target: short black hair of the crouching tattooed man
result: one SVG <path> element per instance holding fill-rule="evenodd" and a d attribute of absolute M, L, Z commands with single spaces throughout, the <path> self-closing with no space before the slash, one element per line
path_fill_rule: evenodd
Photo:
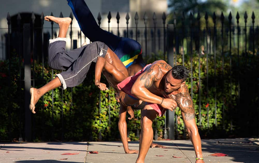
<path fill-rule="evenodd" d="M 177 65 L 172 68 L 172 76 L 175 79 L 181 79 L 184 82 L 190 74 L 190 70 L 183 65 Z"/>

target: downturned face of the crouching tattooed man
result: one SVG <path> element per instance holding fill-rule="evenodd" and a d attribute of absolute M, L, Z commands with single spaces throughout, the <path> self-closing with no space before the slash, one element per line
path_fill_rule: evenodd
<path fill-rule="evenodd" d="M 165 90 L 165 92 L 166 92 L 167 94 L 170 94 L 170 93 L 172 93 L 173 91 L 178 90 L 179 87 L 185 83 L 185 81 L 182 82 L 181 79 L 175 79 L 175 78 L 173 78 L 171 71 L 168 72 L 168 74 L 167 74 L 166 79 L 165 79 L 164 82 L 165 82 L 165 83 L 164 83 L 164 90 Z"/>

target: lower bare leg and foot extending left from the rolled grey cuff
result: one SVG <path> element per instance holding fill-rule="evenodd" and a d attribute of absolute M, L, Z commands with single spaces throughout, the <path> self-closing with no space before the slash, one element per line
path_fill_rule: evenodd
<path fill-rule="evenodd" d="M 53 90 L 54 88 L 60 87 L 61 82 L 58 77 L 54 78 L 50 82 L 48 82 L 46 85 L 40 87 L 39 89 L 37 88 L 31 88 L 30 89 L 30 94 L 31 94 L 31 103 L 29 105 L 29 108 L 33 114 L 35 114 L 35 104 L 38 102 L 40 97 L 47 93 L 50 90 Z"/>

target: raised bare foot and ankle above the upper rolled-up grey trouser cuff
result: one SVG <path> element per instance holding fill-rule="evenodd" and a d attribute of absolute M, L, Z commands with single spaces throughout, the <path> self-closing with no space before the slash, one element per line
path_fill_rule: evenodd
<path fill-rule="evenodd" d="M 66 38 L 68 27 L 71 23 L 71 18 L 57 18 L 54 16 L 45 16 L 45 20 L 47 21 L 54 21 L 56 24 L 59 25 L 59 35 L 58 37 Z"/>

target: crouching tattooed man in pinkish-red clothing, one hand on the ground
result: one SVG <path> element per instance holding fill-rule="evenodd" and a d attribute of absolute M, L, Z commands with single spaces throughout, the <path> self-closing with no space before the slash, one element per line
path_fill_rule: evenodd
<path fill-rule="evenodd" d="M 139 155 L 136 162 L 145 161 L 153 140 L 153 120 L 157 115 L 163 116 L 166 109 L 172 111 L 176 106 L 181 109 L 185 127 L 195 150 L 196 163 L 204 162 L 193 102 L 185 85 L 189 73 L 190 70 L 182 65 L 172 68 L 165 61 L 159 60 L 146 65 L 139 73 L 118 84 L 118 88 L 129 95 L 127 98 L 147 102 L 141 113 Z M 125 100 L 125 103 L 132 101 Z"/>

